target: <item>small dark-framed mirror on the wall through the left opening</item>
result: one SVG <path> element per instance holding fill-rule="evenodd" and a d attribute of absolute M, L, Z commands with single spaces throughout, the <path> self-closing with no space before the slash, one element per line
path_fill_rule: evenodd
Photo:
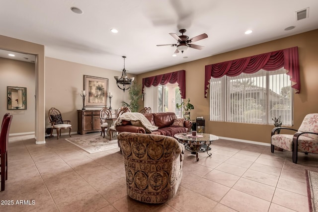
<path fill-rule="evenodd" d="M 26 87 L 7 86 L 7 109 L 26 110 Z"/>

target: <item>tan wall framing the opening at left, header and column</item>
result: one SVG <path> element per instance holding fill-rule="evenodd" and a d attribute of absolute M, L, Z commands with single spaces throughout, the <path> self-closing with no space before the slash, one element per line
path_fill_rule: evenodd
<path fill-rule="evenodd" d="M 36 55 L 35 61 L 35 138 L 36 143 L 45 142 L 45 64 L 44 46 L 0 35 L 0 49 Z M 14 119 L 14 117 L 13 117 Z M 11 129 L 10 129 L 11 132 Z"/>

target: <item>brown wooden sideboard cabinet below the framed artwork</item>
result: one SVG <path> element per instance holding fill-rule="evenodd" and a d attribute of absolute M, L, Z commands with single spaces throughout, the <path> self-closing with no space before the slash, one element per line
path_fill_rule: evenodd
<path fill-rule="evenodd" d="M 78 110 L 78 134 L 100 132 L 100 110 Z"/>

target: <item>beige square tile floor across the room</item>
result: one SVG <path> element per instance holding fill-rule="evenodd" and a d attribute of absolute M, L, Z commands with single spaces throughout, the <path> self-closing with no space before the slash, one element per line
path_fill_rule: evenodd
<path fill-rule="evenodd" d="M 212 157 L 199 153 L 198 162 L 186 151 L 176 196 L 151 205 L 127 196 L 119 148 L 89 154 L 66 138 L 45 144 L 9 139 L 0 211 L 307 212 L 305 169 L 318 169 L 317 154 L 300 153 L 294 164 L 291 152 L 272 154 L 270 146 L 218 140 Z M 20 200 L 24 204 L 18 205 Z"/>

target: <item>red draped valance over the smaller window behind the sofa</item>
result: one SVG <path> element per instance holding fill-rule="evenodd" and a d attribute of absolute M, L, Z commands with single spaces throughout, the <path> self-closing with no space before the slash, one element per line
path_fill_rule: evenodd
<path fill-rule="evenodd" d="M 142 92 L 144 93 L 144 88 L 150 86 L 158 86 L 159 84 L 165 85 L 167 83 L 178 83 L 180 88 L 181 98 L 185 99 L 185 71 L 174 71 L 170 73 L 164 73 L 157 76 L 150 76 L 143 78 L 143 89 Z"/>

